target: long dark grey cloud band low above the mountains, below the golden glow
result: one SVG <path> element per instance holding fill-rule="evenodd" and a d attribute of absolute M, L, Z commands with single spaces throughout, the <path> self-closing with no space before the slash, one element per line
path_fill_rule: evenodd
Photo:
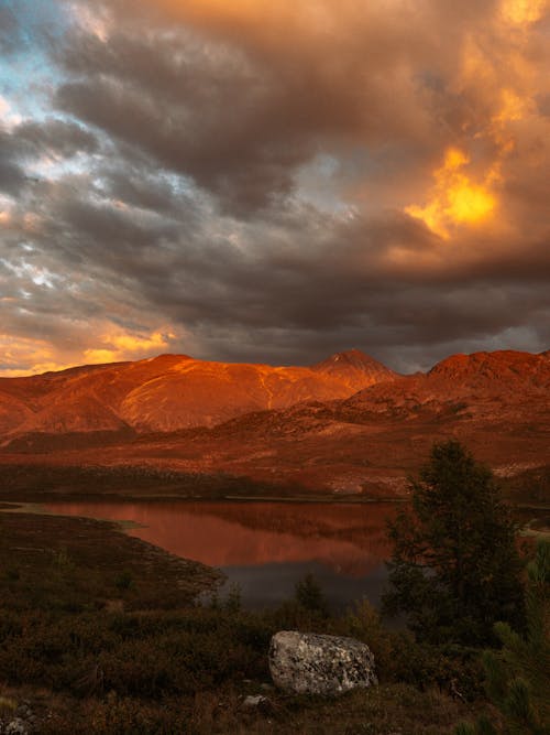
<path fill-rule="evenodd" d="M 70 199 L 69 191 L 58 196 L 58 208 L 50 205 L 65 227 L 58 248 L 78 242 L 80 270 L 129 299 L 139 293 L 152 313 L 200 334 L 210 357 L 238 357 L 234 345 L 223 345 L 224 334 L 277 334 L 273 348 L 264 342 L 246 344 L 243 336 L 242 359 L 258 358 L 264 350 L 277 361 L 277 350 L 293 345 L 295 359 L 307 363 L 333 352 L 333 345 L 366 343 L 380 353 L 396 342 L 430 346 L 442 334 L 460 339 L 498 333 L 521 324 L 526 313 L 534 323 L 537 313 L 539 321 L 544 317 L 543 284 L 539 292 L 532 285 L 514 290 L 503 278 L 488 288 L 483 269 L 476 272 L 475 267 L 452 282 L 439 273 L 431 279 L 426 272 L 389 274 L 380 260 L 385 251 L 381 240 L 385 235 L 387 242 L 410 242 L 411 224 L 405 217 L 382 221 L 376 230 L 366 221 L 339 224 L 314 212 L 308 219 L 302 212 L 301 229 L 295 230 L 295 242 L 285 253 L 266 239 L 268 228 L 261 223 L 242 230 L 249 248 L 241 249 L 212 236 L 200 217 L 195 217 L 195 226 L 189 225 L 193 217 L 187 223 L 184 217 L 163 230 L 140 223 L 132 213 Z M 419 239 L 424 230 L 413 227 Z M 308 248 L 319 229 L 324 241 Z M 250 245 L 262 233 L 262 251 L 252 255 Z M 216 335 L 210 347 L 208 334 Z"/>

